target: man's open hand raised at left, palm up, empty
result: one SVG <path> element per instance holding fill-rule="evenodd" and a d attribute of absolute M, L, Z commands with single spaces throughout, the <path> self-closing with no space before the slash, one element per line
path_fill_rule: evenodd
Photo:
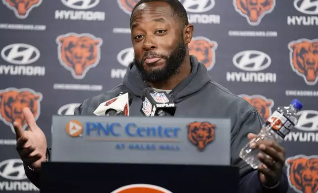
<path fill-rule="evenodd" d="M 22 126 L 17 122 L 13 124 L 17 139 L 16 150 L 26 165 L 39 170 L 41 162 L 46 159 L 46 137 L 38 127 L 29 108 L 23 109 L 23 115 L 28 125 L 28 130 L 23 130 Z"/>

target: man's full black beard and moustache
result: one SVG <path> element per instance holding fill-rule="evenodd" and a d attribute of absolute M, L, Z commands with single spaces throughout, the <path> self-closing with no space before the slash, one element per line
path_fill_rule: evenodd
<path fill-rule="evenodd" d="M 138 61 L 134 58 L 134 64 L 140 72 L 141 78 L 147 82 L 165 81 L 168 78 L 176 75 L 180 71 L 180 66 L 183 63 L 187 54 L 186 45 L 182 42 L 177 44 L 177 47 L 170 53 L 170 55 L 164 56 L 159 55 L 153 51 L 147 51 L 144 55 L 146 56 L 158 56 L 165 60 L 165 65 L 161 69 L 152 70 L 147 72 L 144 67 L 144 59 Z"/>

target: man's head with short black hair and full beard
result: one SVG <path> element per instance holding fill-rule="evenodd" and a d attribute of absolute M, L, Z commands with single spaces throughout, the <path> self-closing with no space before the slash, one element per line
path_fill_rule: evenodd
<path fill-rule="evenodd" d="M 134 64 L 148 82 L 164 81 L 179 73 L 193 35 L 179 0 L 140 0 L 131 13 Z"/>

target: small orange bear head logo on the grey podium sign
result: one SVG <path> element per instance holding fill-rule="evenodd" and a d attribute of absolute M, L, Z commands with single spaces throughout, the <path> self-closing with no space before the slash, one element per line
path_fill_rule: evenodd
<path fill-rule="evenodd" d="M 204 148 L 214 140 L 215 125 L 209 122 L 193 122 L 187 124 L 188 138 L 198 147 L 199 151 L 203 151 Z"/>

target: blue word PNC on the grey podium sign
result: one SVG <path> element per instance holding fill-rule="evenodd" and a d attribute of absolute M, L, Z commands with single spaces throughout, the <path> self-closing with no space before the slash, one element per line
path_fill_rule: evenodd
<path fill-rule="evenodd" d="M 91 123 L 91 122 L 87 122 L 86 123 L 86 134 L 89 136 L 91 131 L 97 131 L 97 135 L 101 135 L 101 131 L 109 136 L 109 135 L 113 135 L 113 136 L 120 136 L 119 133 L 116 133 L 114 131 L 114 127 L 120 127 L 119 123 L 113 123 L 113 124 L 106 124 L 106 127 L 104 127 L 101 123 Z"/>

